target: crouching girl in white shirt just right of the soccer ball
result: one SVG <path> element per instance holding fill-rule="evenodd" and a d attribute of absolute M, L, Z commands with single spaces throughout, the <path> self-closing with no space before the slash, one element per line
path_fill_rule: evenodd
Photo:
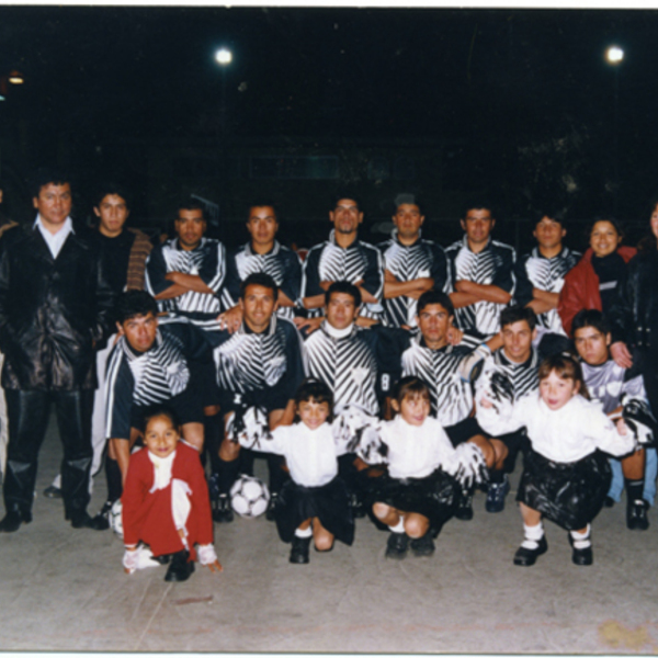
<path fill-rule="evenodd" d="M 239 435 L 242 445 L 284 455 L 291 480 L 282 488 L 275 509 L 283 542 L 292 542 L 290 561 L 308 563 L 313 537 L 316 551 L 333 547 L 334 537 L 351 545 L 354 521 L 348 489 L 338 475 L 338 457 L 347 452 L 334 440 L 329 421 L 333 396 L 329 387 L 306 379 L 295 395 L 296 422 L 265 432 L 262 441 Z"/>

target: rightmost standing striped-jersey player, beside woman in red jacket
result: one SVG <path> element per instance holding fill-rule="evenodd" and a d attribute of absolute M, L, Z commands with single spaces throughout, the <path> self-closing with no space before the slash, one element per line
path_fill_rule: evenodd
<path fill-rule="evenodd" d="M 559 292 L 565 274 L 580 260 L 580 253 L 563 246 L 567 235 L 564 211 L 535 215 L 533 236 L 537 246 L 517 261 L 517 303 L 527 306 L 537 316 L 537 324 L 552 333 L 566 336 L 557 314 Z"/>

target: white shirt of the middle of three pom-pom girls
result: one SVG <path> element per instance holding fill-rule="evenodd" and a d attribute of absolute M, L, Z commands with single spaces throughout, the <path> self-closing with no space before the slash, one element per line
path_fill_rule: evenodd
<path fill-rule="evenodd" d="M 445 430 L 431 416 L 420 427 L 396 416 L 395 420 L 382 423 L 382 441 L 388 446 L 388 473 L 396 479 L 427 477 L 455 458 L 455 449 Z"/>

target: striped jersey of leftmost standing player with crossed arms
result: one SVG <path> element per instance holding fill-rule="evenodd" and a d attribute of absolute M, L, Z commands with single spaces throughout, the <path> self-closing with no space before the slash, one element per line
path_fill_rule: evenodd
<path fill-rule="evenodd" d="M 226 250 L 224 245 L 212 238 L 202 238 L 196 249 L 181 249 L 178 238 L 167 240 L 154 248 L 146 262 L 146 290 L 154 297 L 172 284 L 166 279 L 168 272 L 194 274 L 214 291 L 211 293 L 186 293 L 172 299 L 161 299 L 158 308 L 203 321 L 216 317 L 222 310 L 219 291 L 226 276 Z"/>

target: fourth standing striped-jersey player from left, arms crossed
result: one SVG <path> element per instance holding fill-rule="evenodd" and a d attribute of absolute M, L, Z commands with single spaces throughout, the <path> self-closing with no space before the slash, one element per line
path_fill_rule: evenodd
<path fill-rule="evenodd" d="M 384 257 L 384 308 L 386 324 L 415 327 L 418 297 L 432 288 L 450 292 L 445 252 L 420 237 L 424 215 L 411 201 L 399 203 L 393 216 L 389 240 L 378 245 Z"/>

